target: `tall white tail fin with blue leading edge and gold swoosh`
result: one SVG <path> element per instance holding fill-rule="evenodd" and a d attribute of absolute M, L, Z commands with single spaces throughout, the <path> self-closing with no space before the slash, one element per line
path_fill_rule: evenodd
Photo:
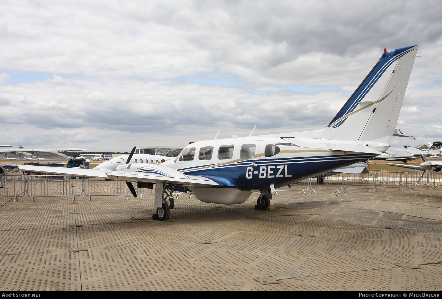
<path fill-rule="evenodd" d="M 330 124 L 315 135 L 360 141 L 392 135 L 418 48 L 384 52 Z"/>

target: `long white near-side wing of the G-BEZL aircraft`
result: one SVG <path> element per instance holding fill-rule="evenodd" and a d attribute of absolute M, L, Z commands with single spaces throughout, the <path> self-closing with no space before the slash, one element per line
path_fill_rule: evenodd
<path fill-rule="evenodd" d="M 171 169 L 170 167 L 155 165 L 156 169 L 163 168 L 159 174 L 151 172 L 132 172 L 132 171 L 105 171 L 85 168 L 65 168 L 65 167 L 48 167 L 35 165 L 15 165 L 5 164 L 3 168 L 19 169 L 24 171 L 37 171 L 44 173 L 53 173 L 60 175 L 79 175 L 104 179 L 119 179 L 126 182 L 146 182 L 146 183 L 175 183 L 180 186 L 220 186 L 219 183 L 211 179 L 201 176 L 187 176 L 181 172 Z M 166 176 L 164 175 L 166 174 Z"/>

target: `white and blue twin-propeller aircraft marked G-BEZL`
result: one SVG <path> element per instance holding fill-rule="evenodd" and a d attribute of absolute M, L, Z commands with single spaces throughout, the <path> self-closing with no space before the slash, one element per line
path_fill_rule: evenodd
<path fill-rule="evenodd" d="M 152 218 L 163 221 L 174 206 L 174 191 L 191 190 L 200 201 L 217 204 L 243 203 L 259 191 L 255 209 L 265 210 L 271 189 L 376 157 L 389 148 L 417 49 L 384 50 L 324 129 L 199 141 L 161 165 L 127 162 L 115 171 L 53 167 L 52 173 L 124 180 L 135 197 L 130 182 L 141 188 L 155 184 Z M 38 166 L 8 167 L 40 171 Z M 48 168 L 42 172 L 51 172 Z"/>

